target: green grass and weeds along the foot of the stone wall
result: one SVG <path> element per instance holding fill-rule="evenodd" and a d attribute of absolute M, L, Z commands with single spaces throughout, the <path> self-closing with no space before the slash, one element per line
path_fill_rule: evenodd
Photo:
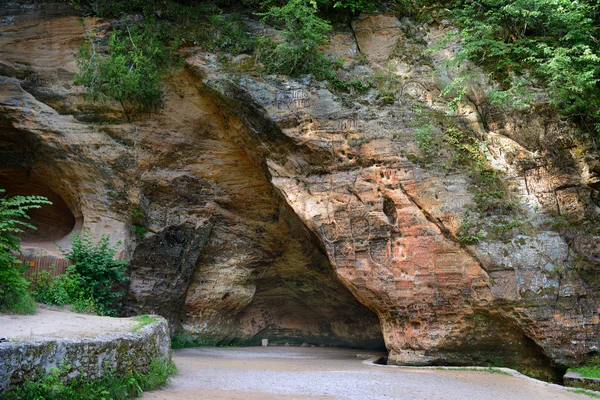
<path fill-rule="evenodd" d="M 109 375 L 102 379 L 85 380 L 81 373 L 74 379 L 68 375 L 77 373 L 71 366 L 62 365 L 45 374 L 41 379 L 3 393 L 3 398 L 20 400 L 125 400 L 140 397 L 143 391 L 164 386 L 177 374 L 173 363 L 164 358 L 153 360 L 147 373 L 128 371 L 122 375 Z"/>

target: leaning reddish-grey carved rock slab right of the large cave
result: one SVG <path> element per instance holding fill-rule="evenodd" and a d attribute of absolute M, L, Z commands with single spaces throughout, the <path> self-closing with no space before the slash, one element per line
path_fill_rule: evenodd
<path fill-rule="evenodd" d="M 483 73 L 448 117 L 444 77 L 431 78 L 444 51 L 413 54 L 438 32 L 406 21 L 387 65 L 373 57 L 374 79 L 387 74 L 398 85 L 393 104 L 373 90 L 336 96 L 325 83 L 211 76 L 202 57 L 188 62 L 254 130 L 264 148 L 256 157 L 266 159 L 273 185 L 344 284 L 376 310 L 391 362 L 580 362 L 598 346 L 597 240 L 587 239 L 598 221 L 594 180 L 586 178 L 593 140 L 576 146 L 573 138 L 585 134 L 542 103 L 498 111 L 483 100 L 493 88 Z M 485 154 L 477 161 L 485 170 L 457 162 L 470 143 L 484 149 L 476 152 Z M 578 241 L 587 253 L 576 250 Z"/>

